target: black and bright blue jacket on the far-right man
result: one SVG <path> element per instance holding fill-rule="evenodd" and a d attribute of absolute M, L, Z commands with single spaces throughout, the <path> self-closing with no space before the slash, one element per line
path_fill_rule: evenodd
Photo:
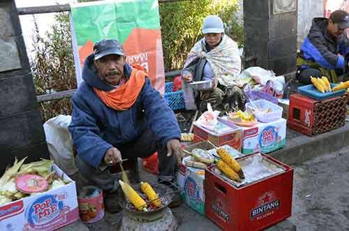
<path fill-rule="evenodd" d="M 329 69 L 343 69 L 344 57 L 349 51 L 349 40 L 346 34 L 332 40 L 327 33 L 328 19 L 315 17 L 308 36 L 301 47 L 301 57 L 315 61 L 320 66 Z M 339 55 L 340 54 L 340 55 Z M 306 68 L 306 66 L 302 66 Z"/>

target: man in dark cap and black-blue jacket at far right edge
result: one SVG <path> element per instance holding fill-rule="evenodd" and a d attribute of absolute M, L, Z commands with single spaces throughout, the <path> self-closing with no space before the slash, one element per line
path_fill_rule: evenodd
<path fill-rule="evenodd" d="M 349 14 L 336 10 L 329 19 L 315 17 L 308 36 L 304 40 L 297 66 L 298 80 L 311 84 L 310 77 L 326 76 L 330 82 L 342 81 L 344 57 L 349 51 L 349 40 L 345 29 L 349 28 Z"/>

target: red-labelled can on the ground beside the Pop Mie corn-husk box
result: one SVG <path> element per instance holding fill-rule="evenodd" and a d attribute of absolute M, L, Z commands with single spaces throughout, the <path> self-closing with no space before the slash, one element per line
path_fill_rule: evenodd
<path fill-rule="evenodd" d="M 100 221 L 104 216 L 103 191 L 86 186 L 77 195 L 80 218 L 84 223 Z"/>

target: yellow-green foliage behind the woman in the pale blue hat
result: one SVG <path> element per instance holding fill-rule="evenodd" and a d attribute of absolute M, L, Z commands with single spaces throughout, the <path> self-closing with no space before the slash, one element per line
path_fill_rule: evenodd
<path fill-rule="evenodd" d="M 195 0 L 161 3 L 161 34 L 165 70 L 178 70 L 191 47 L 202 38 L 202 21 L 207 15 L 218 15 L 231 25 L 233 33 L 240 33 L 237 42 L 242 44 L 242 28 L 233 13 L 238 10 L 238 0 Z M 227 32 L 230 35 L 230 31 Z"/>

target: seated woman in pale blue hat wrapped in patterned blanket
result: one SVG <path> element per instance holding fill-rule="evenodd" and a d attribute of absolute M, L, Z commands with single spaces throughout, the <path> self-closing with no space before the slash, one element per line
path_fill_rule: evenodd
<path fill-rule="evenodd" d="M 236 81 L 241 72 L 241 58 L 235 41 L 225 35 L 220 17 L 209 15 L 202 25 L 204 38 L 191 49 L 181 72 L 187 110 L 205 112 L 207 103 L 221 113 L 243 109 L 244 91 Z M 211 80 L 207 91 L 194 91 L 191 82 Z"/>

